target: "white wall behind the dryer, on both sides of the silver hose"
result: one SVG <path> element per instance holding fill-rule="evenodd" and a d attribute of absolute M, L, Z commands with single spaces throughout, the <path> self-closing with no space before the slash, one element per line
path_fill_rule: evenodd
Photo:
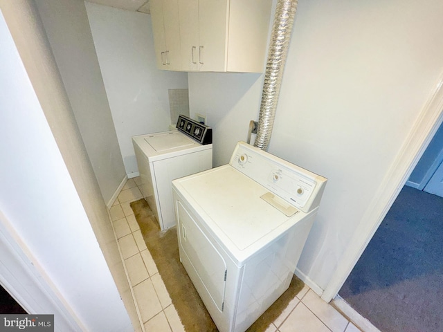
<path fill-rule="evenodd" d="M 298 4 L 269 152 L 329 179 L 298 264 L 320 289 L 435 89 L 442 15 L 439 0 Z M 189 74 L 191 116 L 215 128 L 215 165 L 257 120 L 260 80 Z"/>

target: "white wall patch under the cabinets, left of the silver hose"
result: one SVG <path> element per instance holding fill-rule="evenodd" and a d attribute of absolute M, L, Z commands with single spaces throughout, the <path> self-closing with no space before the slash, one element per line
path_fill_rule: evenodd
<path fill-rule="evenodd" d="M 257 120 L 263 75 L 188 73 L 189 109 L 206 115 L 213 127 L 214 166 L 229 162 L 239 140 L 246 141 L 250 120 Z"/>

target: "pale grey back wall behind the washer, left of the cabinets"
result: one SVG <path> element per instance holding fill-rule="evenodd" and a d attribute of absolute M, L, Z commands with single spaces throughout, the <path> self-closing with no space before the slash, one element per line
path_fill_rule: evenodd
<path fill-rule="evenodd" d="M 132 136 L 168 130 L 168 89 L 187 89 L 187 73 L 156 68 L 151 16 L 86 2 L 98 61 L 129 177 L 138 172 Z"/>

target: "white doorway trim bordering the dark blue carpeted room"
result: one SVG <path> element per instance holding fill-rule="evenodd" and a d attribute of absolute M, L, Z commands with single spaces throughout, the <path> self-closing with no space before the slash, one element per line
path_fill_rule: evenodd
<path fill-rule="evenodd" d="M 340 291 L 442 122 L 443 73 L 440 74 L 437 85 L 415 120 L 394 163 L 381 181 L 374 199 L 363 214 L 343 257 L 338 261 L 336 270 L 321 295 L 326 302 L 330 302 Z"/>

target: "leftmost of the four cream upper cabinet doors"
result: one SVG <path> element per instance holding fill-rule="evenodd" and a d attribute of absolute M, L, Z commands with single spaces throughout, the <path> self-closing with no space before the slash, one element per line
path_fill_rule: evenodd
<path fill-rule="evenodd" d="M 154 49 L 157 68 L 165 69 L 166 66 L 166 41 L 165 27 L 163 25 L 163 3 L 161 0 L 151 0 L 152 32 L 154 33 Z"/>

